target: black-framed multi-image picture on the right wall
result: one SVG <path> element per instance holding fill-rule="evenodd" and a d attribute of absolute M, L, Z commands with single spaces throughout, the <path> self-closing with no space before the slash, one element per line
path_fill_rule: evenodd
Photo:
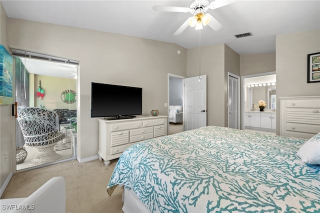
<path fill-rule="evenodd" d="M 307 82 L 320 82 L 320 52 L 308 54 L 307 61 Z"/>

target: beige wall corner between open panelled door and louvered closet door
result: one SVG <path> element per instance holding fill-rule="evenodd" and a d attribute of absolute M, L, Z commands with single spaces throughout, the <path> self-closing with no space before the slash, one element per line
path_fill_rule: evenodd
<path fill-rule="evenodd" d="M 187 49 L 186 76 L 199 74 L 199 49 Z M 207 125 L 227 126 L 227 72 L 239 75 L 239 55 L 222 44 L 202 46 L 201 74 L 207 75 Z"/>

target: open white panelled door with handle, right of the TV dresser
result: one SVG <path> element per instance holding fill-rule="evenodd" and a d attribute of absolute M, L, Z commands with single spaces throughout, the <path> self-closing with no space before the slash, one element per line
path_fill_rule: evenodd
<path fill-rule="evenodd" d="M 206 126 L 206 75 L 184 79 L 184 130 Z"/>

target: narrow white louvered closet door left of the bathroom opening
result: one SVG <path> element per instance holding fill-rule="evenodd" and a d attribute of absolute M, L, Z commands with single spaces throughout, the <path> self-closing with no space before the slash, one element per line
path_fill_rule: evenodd
<path fill-rule="evenodd" d="M 236 129 L 240 127 L 238 80 L 238 76 L 228 74 L 228 127 Z"/>

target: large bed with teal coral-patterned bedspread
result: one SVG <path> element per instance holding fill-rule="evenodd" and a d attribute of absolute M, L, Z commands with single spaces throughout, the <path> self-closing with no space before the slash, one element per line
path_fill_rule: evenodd
<path fill-rule="evenodd" d="M 124 187 L 124 212 L 314 212 L 314 141 L 219 126 L 152 138 L 122 153 L 107 192 Z"/>

